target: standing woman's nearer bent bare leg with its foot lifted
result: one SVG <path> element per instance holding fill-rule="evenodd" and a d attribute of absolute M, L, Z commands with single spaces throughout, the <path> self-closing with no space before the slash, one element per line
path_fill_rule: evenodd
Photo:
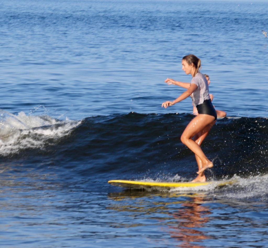
<path fill-rule="evenodd" d="M 207 126 L 210 126 L 211 124 L 213 125 L 214 122 L 214 116 L 210 116 L 207 114 L 199 114 L 193 120 L 190 121 L 190 123 L 185 128 L 183 134 L 181 135 L 181 142 L 183 142 L 184 145 L 186 145 L 191 151 L 193 151 L 202 162 L 202 168 L 199 169 L 199 171 L 197 172 L 198 174 L 202 173 L 207 168 L 213 167 L 213 163 L 206 157 L 198 143 L 192 140 L 192 138 L 199 132 L 203 131 Z M 208 132 L 206 132 L 204 138 L 207 136 L 207 134 Z"/>

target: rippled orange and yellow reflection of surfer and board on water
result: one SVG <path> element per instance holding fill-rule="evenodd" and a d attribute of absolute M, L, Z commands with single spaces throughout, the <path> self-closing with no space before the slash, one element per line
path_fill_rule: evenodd
<path fill-rule="evenodd" d="M 161 231 L 170 235 L 170 239 L 176 239 L 179 242 L 178 247 L 205 247 L 202 245 L 202 241 L 210 238 L 202 228 L 210 220 L 211 215 L 210 208 L 203 204 L 211 199 L 203 193 L 161 194 L 146 191 L 124 191 L 111 193 L 108 196 L 113 200 L 108 209 L 122 212 L 122 215 L 127 214 L 128 216 L 130 212 L 133 220 L 136 218 L 140 220 L 140 223 L 136 223 L 136 221 L 114 223 L 117 227 L 158 225 Z M 154 220 L 153 223 L 152 220 Z"/>

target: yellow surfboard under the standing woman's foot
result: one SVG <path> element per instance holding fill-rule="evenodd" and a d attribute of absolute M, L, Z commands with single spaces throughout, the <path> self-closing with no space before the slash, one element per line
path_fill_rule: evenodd
<path fill-rule="evenodd" d="M 227 181 L 211 181 L 211 182 L 142 182 L 142 181 L 129 181 L 129 180 L 110 180 L 108 181 L 111 185 L 125 187 L 125 188 L 178 188 L 178 187 L 198 187 L 198 186 L 205 186 L 209 184 L 214 184 L 215 187 L 222 187 L 228 184 L 235 183 L 235 180 L 227 180 Z"/>

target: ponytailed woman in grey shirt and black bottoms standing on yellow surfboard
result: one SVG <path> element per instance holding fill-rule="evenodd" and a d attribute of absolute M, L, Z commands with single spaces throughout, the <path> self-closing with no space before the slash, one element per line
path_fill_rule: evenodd
<path fill-rule="evenodd" d="M 217 113 L 210 100 L 206 77 L 200 73 L 201 60 L 190 54 L 183 57 L 181 64 L 183 71 L 187 75 L 192 75 L 191 83 L 176 81 L 178 86 L 187 90 L 174 101 L 163 102 L 162 107 L 167 108 L 191 96 L 193 104 L 198 110 L 198 116 L 192 119 L 185 128 L 181 135 L 181 142 L 193 151 L 198 164 L 198 176 L 192 182 L 205 182 L 204 170 L 213 167 L 213 163 L 206 157 L 200 146 L 209 134 L 211 127 L 216 123 Z M 167 79 L 165 82 L 167 81 L 174 80 Z"/>

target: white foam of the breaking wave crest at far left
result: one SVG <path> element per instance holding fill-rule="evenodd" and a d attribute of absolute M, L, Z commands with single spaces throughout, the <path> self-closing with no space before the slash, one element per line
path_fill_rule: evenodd
<path fill-rule="evenodd" d="M 49 116 L 31 116 L 24 112 L 13 115 L 0 110 L 0 154 L 17 153 L 21 149 L 39 148 L 52 140 L 69 135 L 81 121 L 57 120 Z"/>

